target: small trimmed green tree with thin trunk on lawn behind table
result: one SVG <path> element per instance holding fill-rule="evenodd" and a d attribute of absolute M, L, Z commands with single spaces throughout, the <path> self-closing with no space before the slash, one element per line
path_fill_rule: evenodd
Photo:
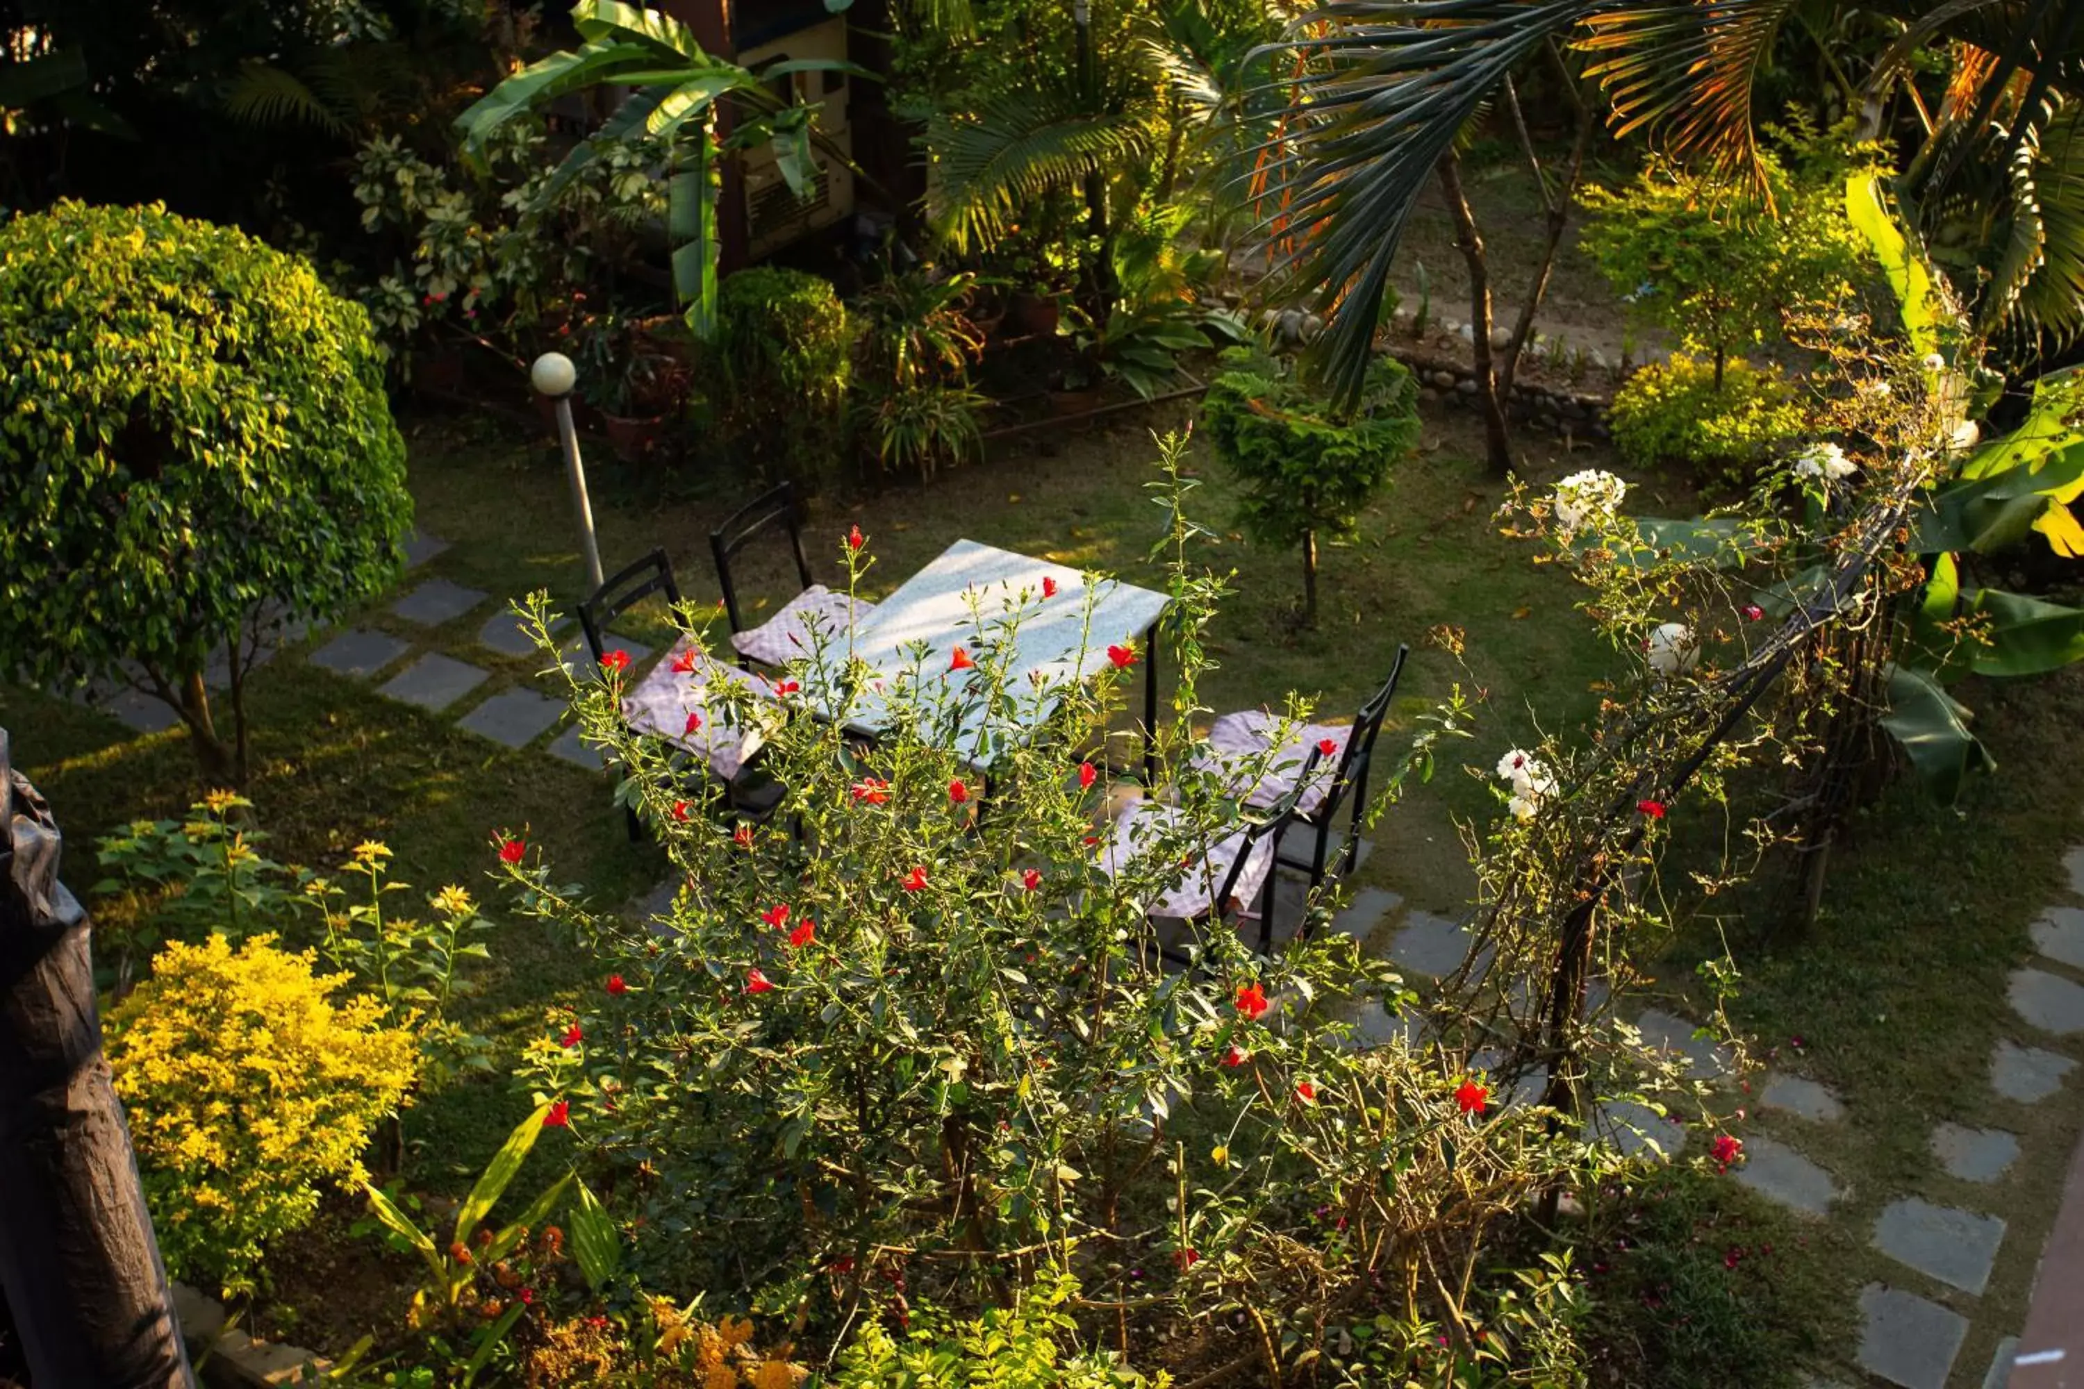
<path fill-rule="evenodd" d="M 1263 546 L 1302 548 L 1302 623 L 1317 623 L 1317 535 L 1353 539 L 1361 508 L 1419 439 L 1411 371 L 1375 356 L 1350 414 L 1271 356 L 1232 348 L 1200 419 L 1215 454 L 1244 487 L 1238 525 Z"/>

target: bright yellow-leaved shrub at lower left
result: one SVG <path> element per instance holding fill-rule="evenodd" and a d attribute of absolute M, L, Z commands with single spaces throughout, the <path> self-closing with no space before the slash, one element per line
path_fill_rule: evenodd
<path fill-rule="evenodd" d="M 348 975 L 273 935 L 169 941 L 108 1016 L 108 1064 L 129 1114 L 167 1270 L 252 1287 L 263 1245 L 311 1220 L 319 1183 L 363 1179 L 369 1129 L 413 1083 L 417 1041 L 383 1004 L 336 1002 Z"/>

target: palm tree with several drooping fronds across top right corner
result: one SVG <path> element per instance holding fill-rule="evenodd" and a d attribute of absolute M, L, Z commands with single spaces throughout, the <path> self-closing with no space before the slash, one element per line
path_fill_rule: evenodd
<path fill-rule="evenodd" d="M 1834 0 L 1811 29 L 1894 31 L 1844 96 L 1865 133 L 1909 127 L 1892 181 L 1976 327 L 2013 362 L 2084 331 L 2084 0 Z M 1455 137 L 1548 44 L 1588 56 L 1619 133 L 1765 192 L 1759 81 L 1794 0 L 1332 0 L 1288 40 L 1309 60 L 1292 217 L 1315 235 L 1286 262 L 1330 325 L 1325 379 L 1353 398 L 1405 223 Z M 1792 40 L 1788 40 L 1792 42 Z M 1913 54 L 1944 48 L 1944 92 Z M 1890 117 L 1901 117 L 1890 123 Z"/>

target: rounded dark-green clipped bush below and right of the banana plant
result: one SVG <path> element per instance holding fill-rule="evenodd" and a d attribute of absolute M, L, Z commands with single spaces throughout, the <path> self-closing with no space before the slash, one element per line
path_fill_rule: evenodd
<path fill-rule="evenodd" d="M 817 483 L 846 427 L 852 327 L 832 281 L 754 267 L 717 292 L 713 381 L 740 454 L 771 477 Z"/>

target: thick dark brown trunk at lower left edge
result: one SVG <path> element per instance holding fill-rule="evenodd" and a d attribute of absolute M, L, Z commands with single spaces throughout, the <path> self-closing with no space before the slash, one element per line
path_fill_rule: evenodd
<path fill-rule="evenodd" d="M 0 729 L 0 1289 L 29 1383 L 194 1389 L 123 1106 L 88 914 Z"/>

